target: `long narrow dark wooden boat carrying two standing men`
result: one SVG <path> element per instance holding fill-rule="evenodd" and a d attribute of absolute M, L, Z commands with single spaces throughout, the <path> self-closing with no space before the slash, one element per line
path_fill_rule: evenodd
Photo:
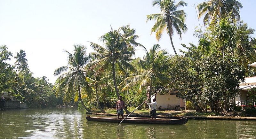
<path fill-rule="evenodd" d="M 116 117 L 92 117 L 86 116 L 88 121 L 98 121 L 98 122 L 112 122 L 119 123 L 123 119 L 117 119 Z M 139 118 L 139 117 L 128 117 L 123 121 L 123 123 L 133 123 L 133 124 L 167 124 L 167 125 L 183 125 L 188 122 L 188 117 L 183 117 L 180 119 L 160 119 L 152 120 L 151 118 Z"/>

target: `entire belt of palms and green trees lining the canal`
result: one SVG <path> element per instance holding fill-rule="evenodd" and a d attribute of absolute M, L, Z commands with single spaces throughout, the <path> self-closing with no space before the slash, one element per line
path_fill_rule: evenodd
<path fill-rule="evenodd" d="M 184 1 L 155 0 L 159 14 L 148 15 L 156 20 L 151 32 L 159 40 L 164 32 L 170 36 L 175 56 L 169 55 L 158 44 L 147 50 L 137 42 L 135 29 L 129 25 L 112 29 L 100 36 L 103 46 L 91 42 L 95 51 L 88 53 L 86 46 L 74 45 L 68 52 L 68 64 L 55 70 L 58 79 L 53 86 L 46 77 L 34 78 L 29 71 L 26 53 L 20 50 L 15 65 L 6 61 L 12 53 L 1 47 L 0 91 L 12 92 L 17 99 L 31 106 L 56 106 L 62 101 L 77 104 L 87 111 L 92 108 L 113 107 L 122 95 L 130 107 L 136 107 L 149 96 L 171 81 L 164 93 L 175 93 L 187 98 L 197 112 L 233 111 L 234 99 L 238 95 L 239 83 L 245 76 L 255 76 L 256 39 L 254 29 L 240 21 L 239 10 L 243 7 L 236 0 L 209 0 L 199 4 L 199 17 L 204 16 L 204 28 L 197 27 L 194 35 L 198 45 L 181 44 L 187 50 L 178 55 L 173 43 L 174 31 L 178 35 L 186 32 L 186 13 L 177 10 L 187 6 Z M 142 47 L 146 55 L 134 59 L 135 48 Z M 56 95 L 56 96 L 55 96 Z M 129 112 L 125 109 L 126 112 Z"/>

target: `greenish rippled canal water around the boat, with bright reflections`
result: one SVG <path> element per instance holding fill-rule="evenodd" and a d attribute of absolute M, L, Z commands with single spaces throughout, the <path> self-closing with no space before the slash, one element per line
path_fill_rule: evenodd
<path fill-rule="evenodd" d="M 75 108 L 0 111 L 0 138 L 256 138 L 256 121 L 188 120 L 185 125 L 118 125 L 89 122 L 85 115 Z"/>

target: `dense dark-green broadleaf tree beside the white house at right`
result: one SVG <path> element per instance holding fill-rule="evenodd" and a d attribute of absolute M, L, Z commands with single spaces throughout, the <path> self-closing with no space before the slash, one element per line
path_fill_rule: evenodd
<path fill-rule="evenodd" d="M 200 59 L 196 67 L 202 79 L 202 93 L 205 101 L 209 102 L 212 112 L 228 110 L 228 104 L 233 104 L 239 92 L 239 84 L 244 81 L 245 70 L 239 59 L 232 56 L 212 54 Z"/>

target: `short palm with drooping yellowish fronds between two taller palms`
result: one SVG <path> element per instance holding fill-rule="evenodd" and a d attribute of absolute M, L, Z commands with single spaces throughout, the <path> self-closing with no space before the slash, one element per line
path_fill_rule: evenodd
<path fill-rule="evenodd" d="M 93 75 L 92 75 L 92 77 L 88 77 L 88 76 L 85 77 L 86 81 L 88 81 L 90 83 L 89 85 L 94 86 L 95 92 L 96 92 L 97 104 L 98 104 L 100 111 L 103 113 L 106 113 L 106 112 L 100 106 L 98 88 L 100 88 L 102 85 L 104 86 L 104 83 L 106 81 L 108 81 L 109 77 L 110 77 L 110 75 L 106 75 L 102 78 L 100 76 L 93 76 Z"/>

